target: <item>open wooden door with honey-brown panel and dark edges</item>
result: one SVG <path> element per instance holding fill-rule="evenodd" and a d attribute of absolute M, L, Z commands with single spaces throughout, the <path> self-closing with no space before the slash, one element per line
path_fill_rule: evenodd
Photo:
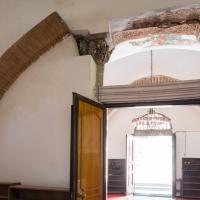
<path fill-rule="evenodd" d="M 106 110 L 73 94 L 71 135 L 71 200 L 106 199 Z"/>

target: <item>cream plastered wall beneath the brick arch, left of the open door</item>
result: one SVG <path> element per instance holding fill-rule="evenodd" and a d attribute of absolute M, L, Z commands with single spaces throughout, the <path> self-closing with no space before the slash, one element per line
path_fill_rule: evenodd
<path fill-rule="evenodd" d="M 69 187 L 72 92 L 94 97 L 96 65 L 72 37 L 33 63 L 0 101 L 0 180 Z"/>

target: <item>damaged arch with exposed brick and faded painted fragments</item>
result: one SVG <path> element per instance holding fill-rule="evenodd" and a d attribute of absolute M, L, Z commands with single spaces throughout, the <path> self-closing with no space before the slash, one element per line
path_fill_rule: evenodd
<path fill-rule="evenodd" d="M 128 40 L 133 40 L 133 46 L 191 45 L 199 43 L 199 33 L 200 4 L 152 11 L 110 24 L 114 46 Z"/>

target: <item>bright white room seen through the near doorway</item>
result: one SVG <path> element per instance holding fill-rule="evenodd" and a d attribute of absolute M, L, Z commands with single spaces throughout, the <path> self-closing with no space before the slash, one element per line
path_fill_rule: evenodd
<path fill-rule="evenodd" d="M 108 109 L 108 199 L 190 199 L 182 162 L 200 158 L 199 117 L 199 105 Z"/>

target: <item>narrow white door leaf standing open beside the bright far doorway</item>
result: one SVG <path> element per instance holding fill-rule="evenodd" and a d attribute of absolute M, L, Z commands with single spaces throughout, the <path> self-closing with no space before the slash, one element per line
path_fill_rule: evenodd
<path fill-rule="evenodd" d="M 134 193 L 134 136 L 126 136 L 127 172 L 126 193 Z"/>

